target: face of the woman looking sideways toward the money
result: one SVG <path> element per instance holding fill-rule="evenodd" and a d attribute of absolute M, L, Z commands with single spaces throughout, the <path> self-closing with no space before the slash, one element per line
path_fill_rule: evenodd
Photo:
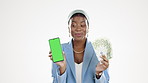
<path fill-rule="evenodd" d="M 74 16 L 70 20 L 69 32 L 74 40 L 83 40 L 88 32 L 87 20 L 82 16 Z"/>

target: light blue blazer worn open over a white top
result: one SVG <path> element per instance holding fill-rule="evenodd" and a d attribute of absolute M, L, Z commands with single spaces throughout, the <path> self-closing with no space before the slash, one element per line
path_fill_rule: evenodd
<path fill-rule="evenodd" d="M 73 56 L 72 41 L 62 44 L 62 49 L 66 56 L 66 71 L 61 76 L 59 75 L 59 66 L 55 63 L 52 65 L 53 83 L 76 83 L 75 62 Z M 96 78 L 95 69 L 98 64 L 98 58 L 93 49 L 91 42 L 86 41 L 82 64 L 82 82 L 81 83 L 109 83 L 108 69 L 103 71 L 100 79 Z"/>

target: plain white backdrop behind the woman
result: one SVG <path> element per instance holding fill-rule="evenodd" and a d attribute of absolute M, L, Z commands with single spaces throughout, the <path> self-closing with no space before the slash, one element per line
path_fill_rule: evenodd
<path fill-rule="evenodd" d="M 70 40 L 67 16 L 83 9 L 89 39 L 110 39 L 110 83 L 148 83 L 147 0 L 0 0 L 0 83 L 51 83 L 48 39 Z"/>

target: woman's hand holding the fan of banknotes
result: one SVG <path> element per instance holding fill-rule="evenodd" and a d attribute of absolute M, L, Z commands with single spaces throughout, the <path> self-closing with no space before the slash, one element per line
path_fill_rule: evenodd
<path fill-rule="evenodd" d="M 104 70 L 106 70 L 109 67 L 109 60 L 106 58 L 106 56 L 102 55 L 100 56 L 102 60 L 97 64 L 96 66 L 96 73 L 102 73 Z"/>

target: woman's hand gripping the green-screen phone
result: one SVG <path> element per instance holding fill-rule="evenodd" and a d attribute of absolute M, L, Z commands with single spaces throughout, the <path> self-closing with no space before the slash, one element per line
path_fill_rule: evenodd
<path fill-rule="evenodd" d="M 53 60 L 51 52 L 49 52 L 49 57 L 50 57 L 50 60 Z M 64 52 L 63 52 L 63 57 L 64 57 L 64 61 L 60 61 L 60 62 L 56 62 L 55 63 L 55 64 L 57 64 L 60 67 L 59 68 L 60 75 L 62 75 L 66 71 L 66 57 L 65 57 L 65 53 Z"/>

